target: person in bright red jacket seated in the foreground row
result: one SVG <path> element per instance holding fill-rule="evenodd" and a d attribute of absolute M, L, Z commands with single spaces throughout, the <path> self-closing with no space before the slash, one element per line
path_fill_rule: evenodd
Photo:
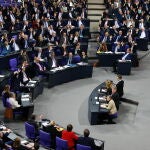
<path fill-rule="evenodd" d="M 62 139 L 68 141 L 69 150 L 75 150 L 75 143 L 78 140 L 78 136 L 72 132 L 73 126 L 71 124 L 67 125 L 67 130 L 62 132 Z"/>

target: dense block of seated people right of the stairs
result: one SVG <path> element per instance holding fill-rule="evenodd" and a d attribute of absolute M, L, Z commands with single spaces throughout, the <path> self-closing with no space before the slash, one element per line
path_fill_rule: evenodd
<path fill-rule="evenodd" d="M 105 3 L 107 9 L 99 22 L 98 42 L 109 43 L 108 49 L 115 51 L 123 43 L 131 48 L 138 39 L 149 40 L 148 1 L 106 0 Z"/>

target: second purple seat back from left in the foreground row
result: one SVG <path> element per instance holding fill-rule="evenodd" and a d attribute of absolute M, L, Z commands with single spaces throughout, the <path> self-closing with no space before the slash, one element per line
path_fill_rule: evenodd
<path fill-rule="evenodd" d="M 39 131 L 40 144 L 45 148 L 50 148 L 51 136 L 42 130 Z"/>

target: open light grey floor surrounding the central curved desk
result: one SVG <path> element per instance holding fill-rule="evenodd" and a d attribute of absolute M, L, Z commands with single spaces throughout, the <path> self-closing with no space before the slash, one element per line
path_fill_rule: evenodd
<path fill-rule="evenodd" d="M 95 125 L 88 122 L 88 97 L 92 90 L 106 79 L 116 82 L 111 68 L 94 68 L 93 77 L 44 89 L 35 100 L 35 114 L 55 120 L 66 126 L 73 124 L 74 131 L 82 133 L 90 129 L 91 136 L 105 141 L 105 150 L 149 150 L 150 149 L 150 55 L 132 68 L 125 80 L 125 97 L 138 101 L 138 107 L 122 103 L 116 125 Z M 1 109 L 0 114 L 3 110 Z M 24 135 L 23 122 L 7 125 Z"/>

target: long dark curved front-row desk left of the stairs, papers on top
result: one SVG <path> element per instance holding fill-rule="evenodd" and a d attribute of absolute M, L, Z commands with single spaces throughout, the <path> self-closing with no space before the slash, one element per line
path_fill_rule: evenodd
<path fill-rule="evenodd" d="M 71 65 L 51 70 L 48 73 L 48 88 L 77 79 L 92 77 L 93 66 L 88 64 Z"/>

